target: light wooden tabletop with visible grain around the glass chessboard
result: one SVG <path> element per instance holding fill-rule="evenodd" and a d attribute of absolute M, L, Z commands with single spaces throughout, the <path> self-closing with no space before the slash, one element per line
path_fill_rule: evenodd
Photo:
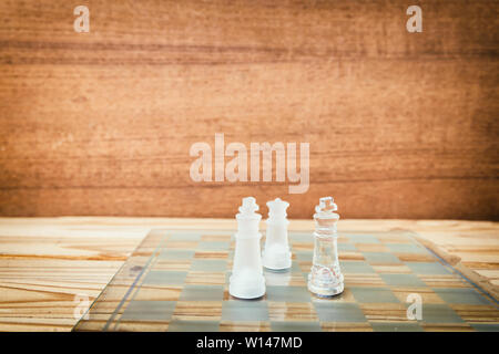
<path fill-rule="evenodd" d="M 152 228 L 233 229 L 228 219 L 0 218 L 0 331 L 70 331 L 77 294 L 92 301 Z M 262 225 L 264 228 L 265 225 Z M 291 229 L 310 231 L 312 220 Z M 342 231 L 406 229 L 499 298 L 499 222 L 342 220 Z"/>

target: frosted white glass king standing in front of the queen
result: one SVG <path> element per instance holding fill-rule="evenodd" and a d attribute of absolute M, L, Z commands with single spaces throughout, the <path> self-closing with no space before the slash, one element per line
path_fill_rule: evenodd
<path fill-rule="evenodd" d="M 256 214 L 255 198 L 243 199 L 236 215 L 237 232 L 234 251 L 234 264 L 228 284 L 228 293 L 235 298 L 255 299 L 265 294 L 265 278 L 262 270 L 258 232 L 262 216 Z"/>

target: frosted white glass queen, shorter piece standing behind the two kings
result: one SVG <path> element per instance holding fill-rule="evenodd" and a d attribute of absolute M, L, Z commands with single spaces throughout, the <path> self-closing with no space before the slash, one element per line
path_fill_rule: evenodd
<path fill-rule="evenodd" d="M 289 246 L 287 242 L 286 209 L 287 201 L 276 198 L 268 201 L 267 232 L 265 239 L 265 250 L 263 251 L 263 266 L 271 270 L 284 270 L 292 266 Z"/>

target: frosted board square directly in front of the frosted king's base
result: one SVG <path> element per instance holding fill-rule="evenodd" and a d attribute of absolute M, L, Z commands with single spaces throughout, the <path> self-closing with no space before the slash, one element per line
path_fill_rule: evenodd
<path fill-rule="evenodd" d="M 232 300 L 222 304 L 223 321 L 268 321 L 265 301 Z"/>

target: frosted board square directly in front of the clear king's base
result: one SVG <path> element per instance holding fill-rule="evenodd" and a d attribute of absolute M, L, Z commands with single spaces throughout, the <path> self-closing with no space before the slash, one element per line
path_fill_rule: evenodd
<path fill-rule="evenodd" d="M 363 310 L 356 303 L 314 302 L 320 322 L 366 322 Z"/>

